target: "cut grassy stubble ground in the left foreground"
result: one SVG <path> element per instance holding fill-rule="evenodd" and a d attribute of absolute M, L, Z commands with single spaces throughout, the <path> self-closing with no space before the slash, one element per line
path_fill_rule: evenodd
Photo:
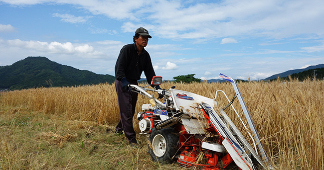
<path fill-rule="evenodd" d="M 64 117 L 64 116 L 62 116 Z M 114 126 L 0 107 L 0 170 L 179 170 L 147 153 L 147 138 L 132 149 Z"/>

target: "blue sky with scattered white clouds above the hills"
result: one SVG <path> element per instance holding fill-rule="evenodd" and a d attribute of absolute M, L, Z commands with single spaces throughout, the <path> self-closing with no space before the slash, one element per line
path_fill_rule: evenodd
<path fill-rule="evenodd" d="M 164 80 L 261 80 L 324 64 L 324 0 L 0 0 L 0 66 L 42 56 L 115 76 L 139 27 Z"/>

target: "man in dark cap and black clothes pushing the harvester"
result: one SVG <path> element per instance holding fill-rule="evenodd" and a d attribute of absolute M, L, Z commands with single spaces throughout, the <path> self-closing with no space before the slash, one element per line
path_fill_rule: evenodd
<path fill-rule="evenodd" d="M 136 133 L 133 127 L 133 116 L 138 93 L 130 91 L 128 85 L 138 85 L 144 71 L 149 84 L 155 72 L 152 66 L 150 54 L 144 49 L 152 36 L 143 27 L 135 31 L 134 44 L 125 45 L 118 56 L 115 65 L 116 92 L 118 98 L 120 121 L 115 128 L 115 133 L 122 133 L 130 142 L 131 147 L 137 147 Z"/>

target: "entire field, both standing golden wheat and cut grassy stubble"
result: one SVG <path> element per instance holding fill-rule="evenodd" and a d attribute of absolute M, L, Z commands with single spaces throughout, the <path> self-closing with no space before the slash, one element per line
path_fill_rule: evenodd
<path fill-rule="evenodd" d="M 229 97 L 234 95 L 228 83 L 166 82 L 162 88 L 172 85 L 210 98 L 217 89 Z M 275 169 L 324 169 L 323 81 L 250 82 L 238 86 Z M 116 98 L 115 87 L 109 84 L 2 92 L 0 168 L 181 169 L 177 164 L 152 162 L 146 137 L 138 135 L 144 147 L 132 150 L 124 135 L 114 135 L 119 121 Z M 218 108 L 227 104 L 221 94 L 217 101 Z M 148 103 L 147 98 L 139 96 L 136 113 L 144 103 Z M 234 105 L 240 108 L 238 102 Z M 233 122 L 238 122 L 233 112 L 227 111 Z M 134 119 L 139 132 L 137 123 Z"/>

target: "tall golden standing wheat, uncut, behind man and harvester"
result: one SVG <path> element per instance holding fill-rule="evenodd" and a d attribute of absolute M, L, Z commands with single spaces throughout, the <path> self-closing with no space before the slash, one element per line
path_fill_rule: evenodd
<path fill-rule="evenodd" d="M 229 83 L 175 84 L 162 88 L 185 90 L 214 98 L 216 90 L 234 96 Z M 277 170 L 324 170 L 324 82 L 290 80 L 287 82 L 238 83 L 245 103 L 262 138 L 272 166 Z M 227 104 L 219 94 L 217 107 Z M 136 114 L 149 103 L 139 95 Z M 240 108 L 239 103 L 234 103 Z M 83 85 L 6 91 L 0 93 L 0 107 L 24 108 L 59 119 L 90 121 L 115 126 L 119 111 L 115 85 Z M 238 109 L 241 115 L 241 110 Z M 0 112 L 4 113 L 5 111 Z M 231 112 L 229 112 L 231 115 Z M 1 115 L 0 115 L 1 116 Z M 237 118 L 231 117 L 233 122 Z M 137 120 L 134 119 L 136 131 Z M 242 127 L 239 127 L 241 129 Z"/>

